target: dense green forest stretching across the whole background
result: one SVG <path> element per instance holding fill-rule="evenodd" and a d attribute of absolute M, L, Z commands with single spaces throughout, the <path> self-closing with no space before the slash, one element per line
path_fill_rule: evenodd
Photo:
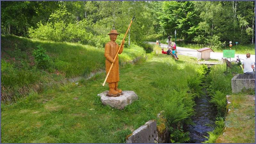
<path fill-rule="evenodd" d="M 255 43 L 254 1 L 2 1 L 1 34 L 102 47 L 107 33 L 140 44 L 170 35 L 222 49 Z M 128 39 L 128 38 L 126 38 Z M 128 41 L 128 40 L 127 40 Z"/>

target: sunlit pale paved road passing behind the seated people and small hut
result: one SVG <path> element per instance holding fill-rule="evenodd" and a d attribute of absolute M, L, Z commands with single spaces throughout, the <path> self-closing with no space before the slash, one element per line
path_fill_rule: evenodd
<path fill-rule="evenodd" d="M 149 44 L 156 44 L 155 42 L 147 42 Z M 168 45 L 166 44 L 161 44 L 162 48 L 167 48 Z M 197 51 L 194 49 L 189 49 L 189 48 L 184 48 L 184 47 L 179 47 L 177 46 L 177 54 L 178 55 L 186 55 L 186 56 L 191 56 L 191 57 L 196 57 L 197 58 Z M 241 62 L 243 62 L 242 59 L 246 59 L 245 54 L 235 54 L 235 58 L 231 58 L 231 61 L 236 60 L 236 56 L 239 56 L 241 58 Z M 223 57 L 222 52 L 211 52 L 210 58 L 211 59 L 218 59 L 221 60 Z M 229 59 L 229 58 L 228 58 Z M 251 59 L 255 62 L 255 55 L 251 54 Z"/>

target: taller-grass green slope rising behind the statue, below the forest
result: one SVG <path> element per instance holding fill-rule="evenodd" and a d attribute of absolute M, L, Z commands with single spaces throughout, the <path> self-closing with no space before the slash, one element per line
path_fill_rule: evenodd
<path fill-rule="evenodd" d="M 32 55 L 38 45 L 50 56 L 45 69 L 36 66 Z M 120 55 L 120 64 L 145 56 L 142 47 L 131 45 Z M 105 70 L 103 47 L 1 36 L 1 99 L 7 102 L 31 91 L 40 92 L 46 84 L 52 86 L 64 79 L 87 77 L 99 70 Z"/>

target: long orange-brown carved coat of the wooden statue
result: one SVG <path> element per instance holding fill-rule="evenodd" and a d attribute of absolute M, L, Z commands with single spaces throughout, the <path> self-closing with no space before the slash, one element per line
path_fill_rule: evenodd
<path fill-rule="evenodd" d="M 119 48 L 118 44 L 116 44 L 116 42 L 113 42 L 113 41 L 110 41 L 105 45 L 104 56 L 106 57 L 105 64 L 106 64 L 107 74 L 112 64 L 111 60 L 115 58 L 118 48 Z M 120 48 L 118 54 L 121 54 L 123 52 L 123 49 L 124 49 L 124 46 Z M 119 62 L 118 62 L 118 55 L 117 55 L 116 61 L 108 75 L 107 82 L 112 83 L 112 82 L 118 82 L 118 81 L 119 81 Z"/>

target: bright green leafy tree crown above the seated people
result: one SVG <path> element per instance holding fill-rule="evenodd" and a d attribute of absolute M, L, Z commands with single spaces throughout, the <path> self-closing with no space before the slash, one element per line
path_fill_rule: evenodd
<path fill-rule="evenodd" d="M 184 38 L 186 42 L 191 41 L 196 35 L 195 27 L 200 19 L 199 11 L 196 11 L 192 1 L 165 1 L 159 13 L 159 24 L 167 35 L 174 38 L 176 30 L 177 37 Z"/>

